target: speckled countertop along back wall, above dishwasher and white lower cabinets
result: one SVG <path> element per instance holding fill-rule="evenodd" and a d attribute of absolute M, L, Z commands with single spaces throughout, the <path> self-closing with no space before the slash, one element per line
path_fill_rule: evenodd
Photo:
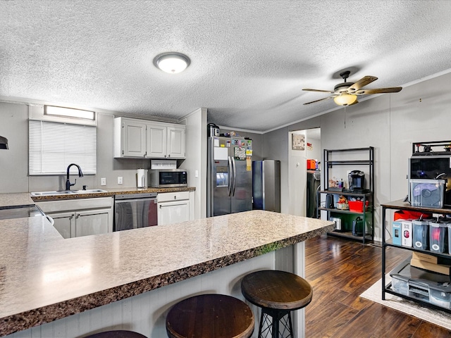
<path fill-rule="evenodd" d="M 32 201 L 56 201 L 62 199 L 91 199 L 93 197 L 109 197 L 117 194 L 143 194 L 146 192 L 194 192 L 195 187 L 179 187 L 179 188 L 113 188 L 107 189 L 106 192 L 95 192 L 92 194 L 62 194 L 62 195 L 48 195 L 48 196 L 31 196 Z M 28 194 L 29 193 L 24 193 Z M 8 194 L 4 194 L 8 195 Z M 32 204 L 32 203 L 31 203 Z M 1 206 L 1 201 L 0 201 Z"/>

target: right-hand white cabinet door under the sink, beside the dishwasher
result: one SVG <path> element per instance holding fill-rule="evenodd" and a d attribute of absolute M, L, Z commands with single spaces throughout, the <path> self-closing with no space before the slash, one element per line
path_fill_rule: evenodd
<path fill-rule="evenodd" d="M 110 232 L 111 209 L 79 211 L 75 214 L 75 237 Z"/>

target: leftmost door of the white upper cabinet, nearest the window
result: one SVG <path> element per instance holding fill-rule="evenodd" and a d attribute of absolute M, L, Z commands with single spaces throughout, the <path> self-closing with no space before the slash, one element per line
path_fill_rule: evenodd
<path fill-rule="evenodd" d="M 144 157 L 146 155 L 146 124 L 140 121 L 123 119 L 123 157 Z"/>

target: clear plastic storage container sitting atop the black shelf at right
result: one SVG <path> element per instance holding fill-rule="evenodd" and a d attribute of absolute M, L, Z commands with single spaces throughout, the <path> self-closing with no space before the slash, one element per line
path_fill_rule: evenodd
<path fill-rule="evenodd" d="M 410 180 L 412 206 L 443 208 L 445 180 Z"/>

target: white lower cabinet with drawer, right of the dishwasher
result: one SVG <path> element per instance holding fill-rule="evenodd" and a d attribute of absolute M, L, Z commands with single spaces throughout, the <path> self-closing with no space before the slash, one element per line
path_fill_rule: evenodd
<path fill-rule="evenodd" d="M 168 225 L 173 223 L 193 220 L 192 200 L 194 194 L 190 192 L 168 192 L 158 194 L 156 201 L 158 204 L 158 225 Z"/>

